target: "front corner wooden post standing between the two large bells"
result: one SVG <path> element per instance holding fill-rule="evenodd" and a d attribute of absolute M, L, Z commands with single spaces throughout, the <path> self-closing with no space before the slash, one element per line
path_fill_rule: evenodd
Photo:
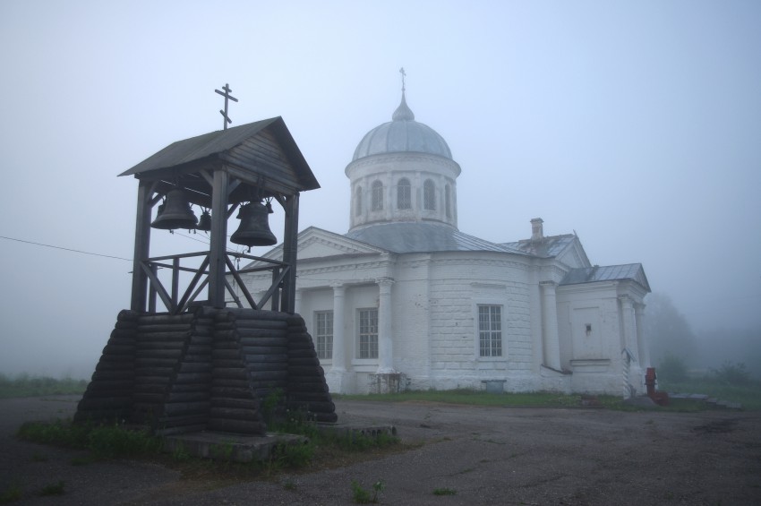
<path fill-rule="evenodd" d="M 214 171 L 211 189 L 211 241 L 209 244 L 209 304 L 225 307 L 225 269 L 227 262 L 227 170 Z"/>

